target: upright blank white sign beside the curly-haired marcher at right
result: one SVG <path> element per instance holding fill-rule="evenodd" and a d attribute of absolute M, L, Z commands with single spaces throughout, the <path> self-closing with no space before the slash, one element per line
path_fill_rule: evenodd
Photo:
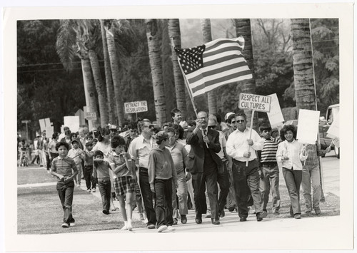
<path fill-rule="evenodd" d="M 296 138 L 299 143 L 315 144 L 318 135 L 318 110 L 300 109 L 298 112 L 298 134 Z"/>

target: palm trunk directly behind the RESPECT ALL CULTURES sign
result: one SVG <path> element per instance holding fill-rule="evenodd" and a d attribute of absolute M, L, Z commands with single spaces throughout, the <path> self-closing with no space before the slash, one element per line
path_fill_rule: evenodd
<path fill-rule="evenodd" d="M 251 70 L 253 78 L 241 81 L 242 83 L 242 93 L 256 94 L 256 79 L 254 75 L 254 63 L 253 63 L 253 46 L 251 45 L 251 20 L 250 19 L 234 19 L 236 24 L 236 36 L 243 36 L 244 38 L 244 50 L 243 56 L 246 58 L 248 67 Z M 251 122 L 251 110 L 245 111 L 247 115 L 247 122 Z M 253 128 L 258 125 L 258 115 L 255 114 L 253 121 Z"/>

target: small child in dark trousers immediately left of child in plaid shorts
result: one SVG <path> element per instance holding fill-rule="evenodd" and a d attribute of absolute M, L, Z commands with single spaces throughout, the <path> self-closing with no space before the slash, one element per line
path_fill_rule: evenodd
<path fill-rule="evenodd" d="M 93 162 L 93 178 L 98 182 L 99 192 L 101 192 L 101 202 L 103 204 L 104 215 L 109 215 L 111 207 L 111 178 L 109 175 L 109 162 L 104 160 L 104 153 L 96 150 Z"/>

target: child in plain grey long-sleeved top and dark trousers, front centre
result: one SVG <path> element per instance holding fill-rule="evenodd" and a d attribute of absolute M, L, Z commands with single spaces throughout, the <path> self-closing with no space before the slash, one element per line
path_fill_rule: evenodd
<path fill-rule="evenodd" d="M 149 183 L 152 192 L 156 192 L 156 221 L 157 232 L 166 229 L 174 230 L 172 224 L 172 180 L 177 187 L 177 173 L 170 151 L 166 148 L 169 145 L 169 135 L 164 131 L 156 134 L 156 144 L 149 154 Z"/>

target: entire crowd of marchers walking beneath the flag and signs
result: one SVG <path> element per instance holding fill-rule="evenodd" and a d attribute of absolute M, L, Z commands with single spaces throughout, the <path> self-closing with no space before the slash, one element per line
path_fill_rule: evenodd
<path fill-rule="evenodd" d="M 62 227 L 74 226 L 72 202 L 74 187 L 83 181 L 88 192 L 99 189 L 102 212 L 116 210 L 119 200 L 124 220 L 122 230 L 133 229 L 131 217 L 138 207 L 148 229 L 162 232 L 186 224 L 188 209 L 196 212 L 196 224 L 203 215 L 212 224 L 221 224 L 225 212 L 238 212 L 246 222 L 255 214 L 260 222 L 271 212 L 279 215 L 281 172 L 290 197 L 290 215 L 301 219 L 300 187 L 306 215 L 321 215 L 321 180 L 316 143 L 296 140 L 296 127 L 284 125 L 272 136 L 271 126 L 263 123 L 256 130 L 247 128 L 243 111 L 219 115 L 201 111 L 191 122 L 182 120 L 181 111 L 171 111 L 172 120 L 161 128 L 150 120 L 139 119 L 121 130 L 116 125 L 104 128 L 64 127 L 63 133 L 46 132 L 37 136 L 34 158 L 58 178 L 64 210 Z M 19 165 L 27 159 L 28 145 L 19 143 Z M 312 192 L 311 192 L 312 186 Z M 268 210 L 269 195 L 271 210 Z M 270 205 L 269 205 L 270 206 Z"/>

